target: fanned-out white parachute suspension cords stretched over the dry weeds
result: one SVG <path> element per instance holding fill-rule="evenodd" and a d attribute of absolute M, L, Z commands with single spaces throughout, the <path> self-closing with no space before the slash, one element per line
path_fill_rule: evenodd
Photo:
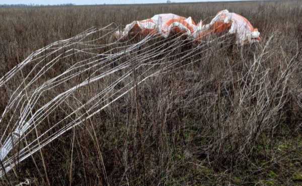
<path fill-rule="evenodd" d="M 185 34 L 173 38 L 149 34 L 139 41 L 133 37 L 110 42 L 118 30 L 110 24 L 54 42 L 0 78 L 0 88 L 12 87 L 0 116 L 0 125 L 5 126 L 0 176 L 73 127 L 84 125 L 147 79 L 205 61 L 217 44 L 224 43 L 216 51 L 230 45 L 225 44 L 230 41 L 227 37 L 196 43 L 184 39 Z M 89 99 L 84 100 L 82 94 Z M 58 112 L 61 117 L 51 120 Z"/>

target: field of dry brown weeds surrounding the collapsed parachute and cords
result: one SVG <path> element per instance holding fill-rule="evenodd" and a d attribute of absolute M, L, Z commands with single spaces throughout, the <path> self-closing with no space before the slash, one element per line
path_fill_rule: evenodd
<path fill-rule="evenodd" d="M 301 185 L 300 1 L 3 8 L 0 77 L 33 51 L 93 26 L 126 25 L 160 13 L 209 22 L 223 9 L 250 20 L 262 41 L 241 47 L 230 36 L 231 41 L 217 39 L 203 46 L 206 53 L 182 59 L 182 68 L 138 84 L 18 164 L 0 184 L 28 180 L 31 185 Z M 109 37 L 102 40 L 109 41 Z M 187 43 L 173 55 L 155 58 L 177 61 L 192 48 Z M 140 59 L 137 55 L 133 52 L 110 67 Z M 87 55 L 77 57 L 83 60 Z M 61 60 L 47 74 L 62 73 L 73 60 Z M 24 74 L 30 71 L 24 70 Z M 87 78 L 88 73 L 70 84 Z M 131 76 L 135 82 L 136 73 Z M 86 103 L 110 82 L 100 81 L 74 92 L 77 101 L 68 99 L 68 105 L 48 115 L 36 133 Z M 47 92 L 35 107 L 70 84 Z M 15 86 L 12 81 L 0 87 L 0 113 Z M 10 115 L 3 123 L 9 120 Z M 5 127 L 0 127 L 0 135 Z"/>

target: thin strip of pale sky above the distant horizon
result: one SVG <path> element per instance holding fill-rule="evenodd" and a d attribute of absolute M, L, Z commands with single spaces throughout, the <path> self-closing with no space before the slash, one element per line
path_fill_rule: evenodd
<path fill-rule="evenodd" d="M 219 0 L 172 0 L 171 2 L 211 2 Z M 220 0 L 224 1 L 224 0 Z M 225 0 L 230 1 L 230 0 Z M 95 4 L 140 4 L 140 3 L 166 3 L 167 0 L 0 0 L 0 4 L 38 4 L 38 5 L 57 5 L 72 3 L 76 5 L 95 5 Z"/>

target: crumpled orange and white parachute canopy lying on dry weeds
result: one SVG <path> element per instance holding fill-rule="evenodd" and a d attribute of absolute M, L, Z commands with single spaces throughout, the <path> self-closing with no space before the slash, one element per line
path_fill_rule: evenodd
<path fill-rule="evenodd" d="M 205 36 L 213 34 L 236 34 L 237 43 L 241 45 L 260 41 L 260 33 L 246 18 L 236 13 L 230 13 L 228 10 L 218 12 L 207 25 L 203 25 L 202 21 L 196 25 L 191 17 L 159 14 L 150 19 L 133 21 L 122 32 L 117 31 L 115 36 L 125 38 L 136 34 L 141 36 L 160 34 L 167 38 L 175 33 L 186 34 L 195 40 L 202 40 Z"/>

